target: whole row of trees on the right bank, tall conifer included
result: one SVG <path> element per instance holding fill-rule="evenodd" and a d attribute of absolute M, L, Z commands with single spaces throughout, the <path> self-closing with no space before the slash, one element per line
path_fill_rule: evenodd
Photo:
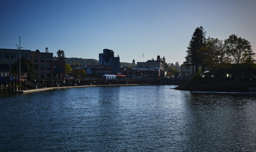
<path fill-rule="evenodd" d="M 199 65 L 202 66 L 202 72 L 206 69 L 225 69 L 232 64 L 255 68 L 255 53 L 248 40 L 234 34 L 225 40 L 206 38 L 205 35 L 205 29 L 202 26 L 197 27 L 186 50 L 183 64 L 195 65 L 196 73 L 199 73 Z"/>

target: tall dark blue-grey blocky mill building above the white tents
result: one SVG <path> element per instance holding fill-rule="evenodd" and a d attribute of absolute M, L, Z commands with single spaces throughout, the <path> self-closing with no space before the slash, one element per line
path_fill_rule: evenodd
<path fill-rule="evenodd" d="M 111 68 L 111 73 L 118 73 L 120 67 L 120 58 L 114 57 L 114 51 L 103 49 L 103 53 L 99 53 L 99 65 L 108 65 Z"/>

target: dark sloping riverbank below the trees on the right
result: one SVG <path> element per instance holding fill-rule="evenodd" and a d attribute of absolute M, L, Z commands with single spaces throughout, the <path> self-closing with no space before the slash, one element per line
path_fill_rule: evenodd
<path fill-rule="evenodd" d="M 249 92 L 255 88 L 256 81 L 211 80 L 207 83 L 192 84 L 190 81 L 180 84 L 175 90 L 214 91 L 214 92 Z"/>

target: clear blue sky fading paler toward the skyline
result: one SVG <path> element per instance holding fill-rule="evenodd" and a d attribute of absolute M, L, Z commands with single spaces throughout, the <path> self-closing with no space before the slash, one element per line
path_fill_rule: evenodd
<path fill-rule="evenodd" d="M 206 37 L 231 34 L 256 53 L 256 0 L 0 0 L 0 48 L 21 47 L 56 55 L 99 59 L 107 48 L 120 62 L 185 61 L 196 27 Z M 143 57 L 142 54 L 145 56 Z"/>

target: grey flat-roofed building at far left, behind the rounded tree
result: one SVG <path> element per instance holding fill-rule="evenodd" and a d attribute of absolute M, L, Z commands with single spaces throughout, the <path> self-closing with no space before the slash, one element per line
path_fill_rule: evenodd
<path fill-rule="evenodd" d="M 21 57 L 26 59 L 30 58 L 31 50 L 21 50 Z M 19 59 L 19 50 L 18 49 L 7 49 L 7 48 L 0 48 L 0 62 L 3 64 L 14 64 L 15 61 Z"/>

